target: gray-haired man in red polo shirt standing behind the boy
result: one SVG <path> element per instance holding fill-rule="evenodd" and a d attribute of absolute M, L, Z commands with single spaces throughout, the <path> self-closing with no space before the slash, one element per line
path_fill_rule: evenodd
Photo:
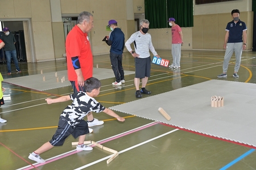
<path fill-rule="evenodd" d="M 68 65 L 68 80 L 74 93 L 85 92 L 84 82 L 93 77 L 93 56 L 90 49 L 88 32 L 93 28 L 93 15 L 83 11 L 79 14 L 77 24 L 68 33 L 66 39 L 66 54 Z M 88 127 L 102 125 L 103 121 L 93 118 L 92 112 L 87 115 Z M 92 132 L 92 129 L 89 128 Z"/>

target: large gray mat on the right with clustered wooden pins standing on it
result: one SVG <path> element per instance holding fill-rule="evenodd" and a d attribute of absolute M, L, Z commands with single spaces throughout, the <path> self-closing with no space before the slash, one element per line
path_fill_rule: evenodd
<path fill-rule="evenodd" d="M 153 91 L 154 93 L 154 91 Z M 210 80 L 171 92 L 111 107 L 176 127 L 256 146 L 256 84 Z M 224 97 L 223 107 L 211 107 L 210 97 Z M 158 108 L 170 116 L 167 121 Z"/>

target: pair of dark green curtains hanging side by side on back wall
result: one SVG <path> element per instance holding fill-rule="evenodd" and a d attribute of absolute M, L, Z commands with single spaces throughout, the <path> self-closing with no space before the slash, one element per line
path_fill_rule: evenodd
<path fill-rule="evenodd" d="M 193 27 L 193 0 L 144 0 L 144 5 L 150 28 L 170 27 L 171 17 L 180 27 Z"/>

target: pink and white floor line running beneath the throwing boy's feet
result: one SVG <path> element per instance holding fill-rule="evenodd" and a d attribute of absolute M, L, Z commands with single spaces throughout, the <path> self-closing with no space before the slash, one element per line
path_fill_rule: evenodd
<path fill-rule="evenodd" d="M 156 125 L 156 124 L 158 124 L 158 123 L 159 123 L 159 122 L 151 123 L 150 125 L 143 126 L 143 127 L 141 127 L 141 128 L 137 128 L 137 129 L 135 129 L 135 130 L 131 130 L 131 131 L 129 131 L 129 132 L 125 132 L 125 133 L 120 134 L 120 135 L 115 135 L 115 136 L 113 136 L 112 138 L 108 138 L 108 139 L 105 139 L 105 140 L 101 140 L 101 141 L 98 142 L 98 143 L 100 143 L 100 144 L 106 143 L 106 142 L 109 142 L 109 141 L 111 141 L 111 140 L 114 140 L 114 139 L 117 139 L 117 138 L 121 138 L 122 136 L 129 135 L 129 134 L 131 134 L 131 133 L 133 133 L 133 132 L 137 132 L 137 131 L 139 131 L 139 130 L 143 130 L 144 128 L 154 126 L 154 125 Z M 92 147 L 94 147 L 94 145 L 93 145 Z M 69 156 L 69 155 L 76 154 L 77 152 L 81 152 L 81 151 L 73 151 L 73 152 L 69 152 L 68 154 L 63 154 L 63 155 L 55 156 L 53 159 L 49 159 L 49 160 L 47 160 L 47 161 L 46 161 L 45 163 L 43 163 L 43 164 L 35 163 L 34 165 L 32 165 L 32 164 L 29 163 L 29 164 L 30 164 L 31 166 L 33 166 L 33 167 L 28 167 L 28 166 L 29 166 L 29 165 L 28 165 L 28 166 L 26 166 L 26 167 L 19 168 L 19 169 L 30 170 L 30 169 L 32 169 L 32 168 L 34 168 L 34 167 L 40 167 L 40 166 L 42 166 L 42 165 L 45 165 L 45 164 L 51 163 L 51 162 L 53 162 L 53 161 L 59 160 L 59 159 L 61 159 L 61 158 L 63 158 L 63 157 L 67 157 L 67 156 Z M 27 161 L 26 161 L 26 162 L 27 162 Z"/>

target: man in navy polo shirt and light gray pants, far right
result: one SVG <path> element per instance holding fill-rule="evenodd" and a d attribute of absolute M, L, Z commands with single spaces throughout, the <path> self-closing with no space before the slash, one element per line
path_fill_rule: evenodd
<path fill-rule="evenodd" d="M 240 68 L 241 56 L 243 49 L 246 49 L 246 24 L 239 19 L 240 11 L 238 9 L 232 10 L 231 15 L 233 17 L 232 22 L 229 22 L 226 26 L 226 35 L 224 42 L 224 49 L 226 49 L 224 61 L 223 61 L 223 73 L 217 77 L 227 77 L 226 72 L 228 71 L 229 60 L 235 52 L 236 65 L 234 68 L 233 77 L 238 78 L 238 70 Z"/>

